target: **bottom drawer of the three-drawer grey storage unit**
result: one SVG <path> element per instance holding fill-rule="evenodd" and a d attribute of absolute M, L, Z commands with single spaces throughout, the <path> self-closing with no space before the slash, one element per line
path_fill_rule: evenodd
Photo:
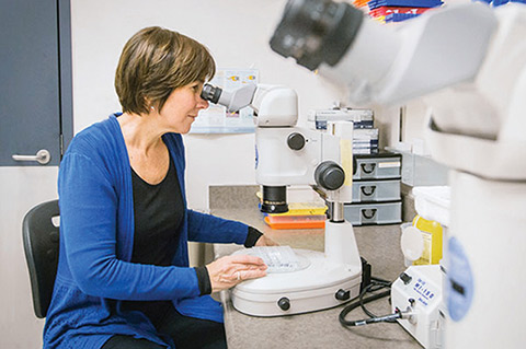
<path fill-rule="evenodd" d="M 353 225 L 402 222 L 402 202 L 345 203 L 345 219 Z"/>

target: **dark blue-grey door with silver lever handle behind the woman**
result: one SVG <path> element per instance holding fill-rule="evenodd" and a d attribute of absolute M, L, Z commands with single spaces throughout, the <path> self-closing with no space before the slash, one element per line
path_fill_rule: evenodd
<path fill-rule="evenodd" d="M 0 165 L 58 165 L 61 124 L 71 129 L 69 38 L 69 1 L 0 0 Z M 12 158 L 39 150 L 46 164 Z"/>

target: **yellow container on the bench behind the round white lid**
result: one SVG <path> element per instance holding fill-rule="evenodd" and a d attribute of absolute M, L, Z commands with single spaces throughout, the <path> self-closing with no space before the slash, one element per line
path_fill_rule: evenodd
<path fill-rule="evenodd" d="M 419 229 L 424 240 L 424 251 L 413 265 L 438 264 L 442 259 L 443 229 L 441 223 L 423 219 L 419 214 L 413 219 L 413 226 Z"/>

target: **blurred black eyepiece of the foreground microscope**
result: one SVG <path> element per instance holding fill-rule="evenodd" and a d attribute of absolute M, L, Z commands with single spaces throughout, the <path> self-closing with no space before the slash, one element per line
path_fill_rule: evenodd
<path fill-rule="evenodd" d="M 364 14 L 345 2 L 289 0 L 271 48 L 310 70 L 335 66 L 353 43 Z"/>

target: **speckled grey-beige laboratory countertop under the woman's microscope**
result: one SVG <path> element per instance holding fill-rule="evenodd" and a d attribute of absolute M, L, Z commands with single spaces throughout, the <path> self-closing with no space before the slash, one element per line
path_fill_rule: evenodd
<path fill-rule="evenodd" d="M 249 188 L 249 193 L 252 189 Z M 281 245 L 323 251 L 323 229 L 273 230 L 264 223 L 256 202 L 253 205 L 251 201 L 252 197 L 248 200 L 243 199 L 245 189 L 233 188 L 233 194 L 224 196 L 222 194 L 228 190 L 228 188 L 216 190 L 215 194 L 219 194 L 219 199 L 217 195 L 213 199 L 213 191 L 210 191 L 213 214 L 250 224 Z M 374 277 L 392 281 L 405 269 L 400 251 L 399 224 L 355 226 L 354 232 L 359 254 L 371 265 Z M 218 258 L 244 247 L 235 244 L 214 244 L 213 248 L 214 256 Z M 256 317 L 238 312 L 231 303 L 230 291 L 222 291 L 216 296 L 225 307 L 225 328 L 229 349 L 422 348 L 397 323 L 343 327 L 339 322 L 339 315 L 345 305 L 307 314 Z M 388 298 L 368 303 L 366 307 L 376 315 L 391 313 Z M 367 315 L 358 307 L 352 311 L 346 319 L 366 317 Z"/>

